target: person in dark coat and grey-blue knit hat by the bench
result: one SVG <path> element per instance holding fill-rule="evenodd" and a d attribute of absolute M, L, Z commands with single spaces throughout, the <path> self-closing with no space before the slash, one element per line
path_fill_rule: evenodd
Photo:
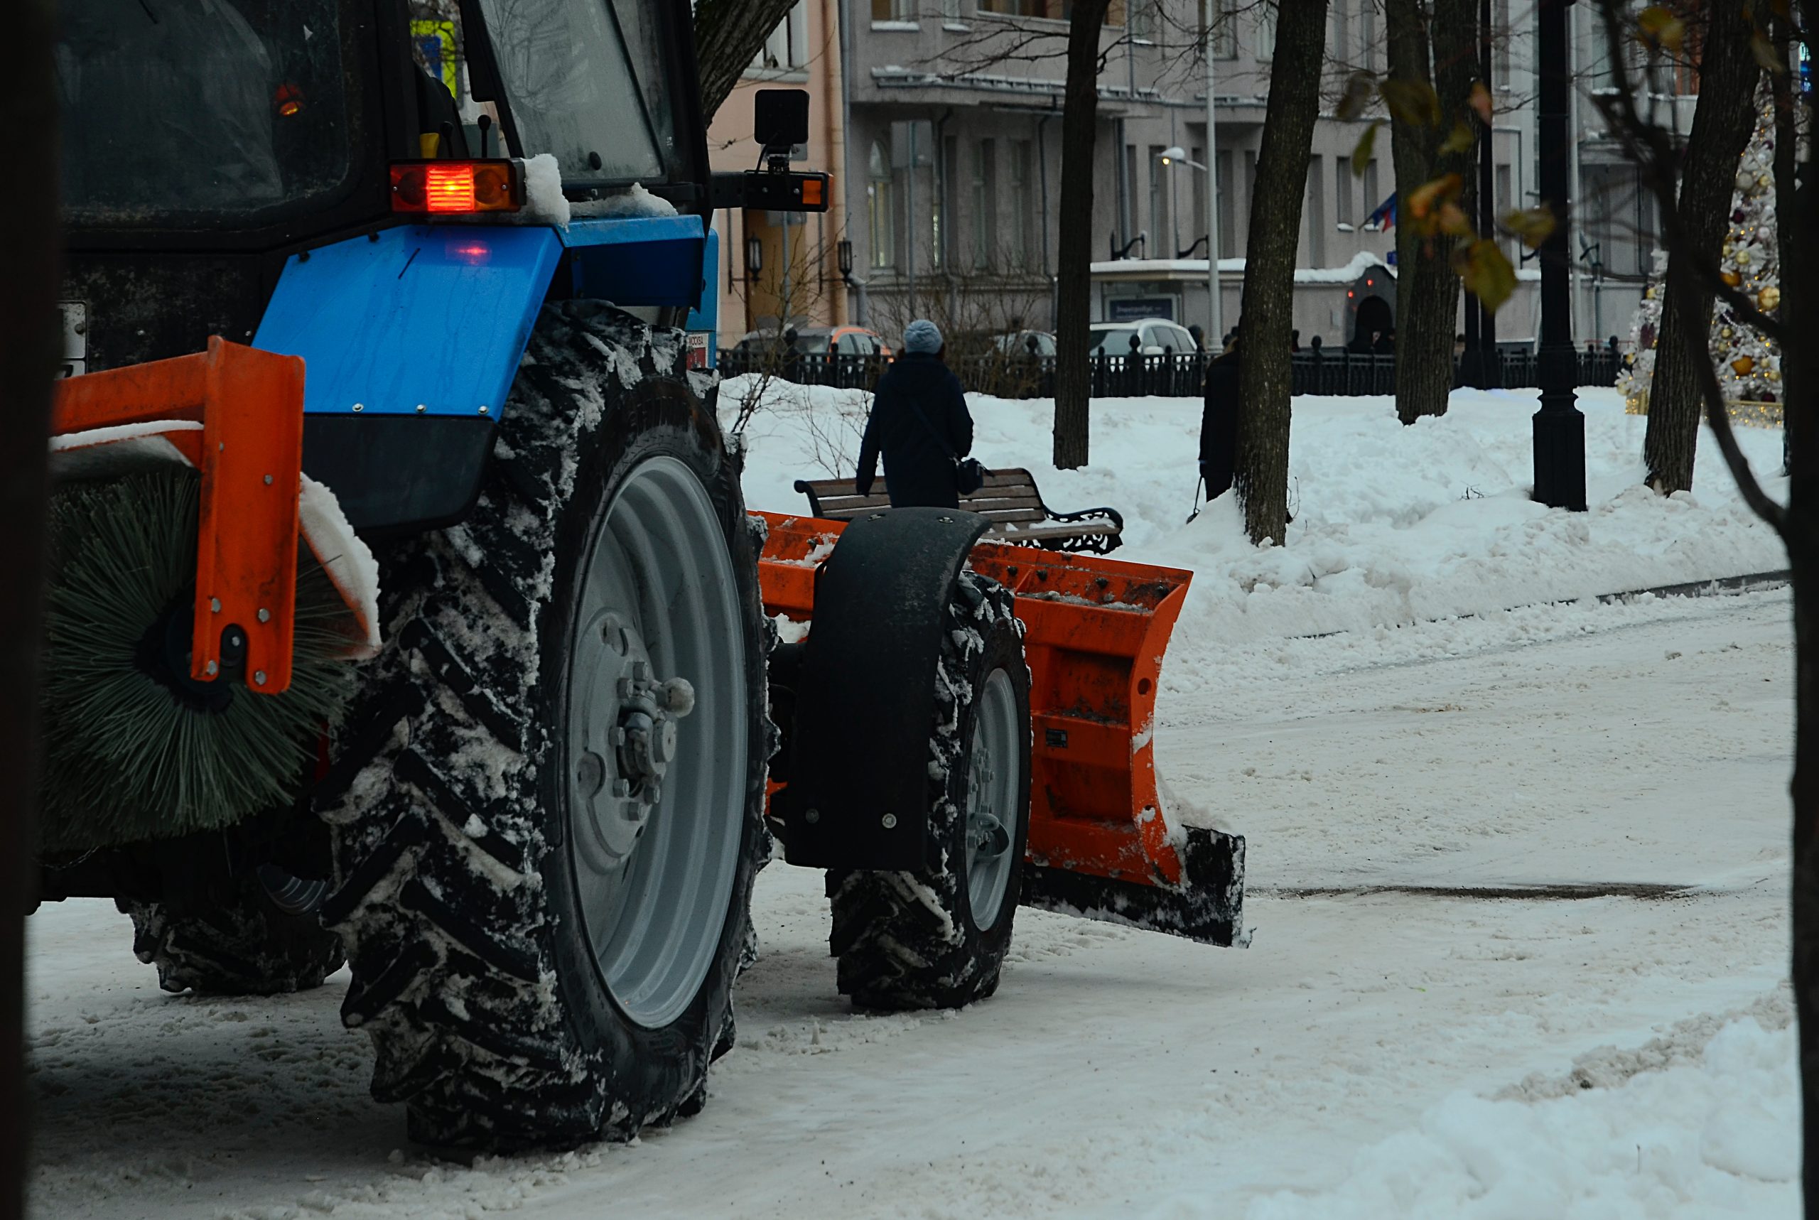
<path fill-rule="evenodd" d="M 973 449 L 973 416 L 944 351 L 933 322 L 917 318 L 904 327 L 904 355 L 884 369 L 871 398 L 853 480 L 859 495 L 871 495 L 882 456 L 893 509 L 960 507 L 953 467 Z"/>

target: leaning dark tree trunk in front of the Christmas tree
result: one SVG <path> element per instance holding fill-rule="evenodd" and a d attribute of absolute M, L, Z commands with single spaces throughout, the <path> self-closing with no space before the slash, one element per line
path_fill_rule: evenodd
<path fill-rule="evenodd" d="M 1697 258 L 1717 258 L 1730 225 L 1737 158 L 1755 127 L 1755 82 L 1750 55 L 1748 0 L 1712 0 L 1706 7 L 1699 62 L 1699 109 L 1681 164 L 1679 216 L 1683 242 Z M 1786 278 L 1786 267 L 1783 267 Z M 1670 247 L 1655 376 L 1648 387 L 1648 433 L 1643 460 L 1648 485 L 1666 495 L 1692 491 L 1704 400 L 1695 362 L 1710 362 L 1712 293 L 1693 275 L 1686 251 Z"/>

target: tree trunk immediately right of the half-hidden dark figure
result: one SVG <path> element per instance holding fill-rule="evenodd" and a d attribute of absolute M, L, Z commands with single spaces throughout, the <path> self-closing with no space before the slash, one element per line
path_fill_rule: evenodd
<path fill-rule="evenodd" d="M 1295 249 L 1308 153 L 1321 111 L 1326 0 L 1282 4 L 1275 25 L 1270 104 L 1257 151 L 1257 193 L 1244 244 L 1239 351 L 1239 449 L 1233 485 L 1251 542 L 1288 533 L 1290 342 L 1295 327 Z"/>

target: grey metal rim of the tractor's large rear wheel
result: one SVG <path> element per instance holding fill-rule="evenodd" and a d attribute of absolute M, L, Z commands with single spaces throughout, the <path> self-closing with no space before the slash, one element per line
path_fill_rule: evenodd
<path fill-rule="evenodd" d="M 564 725 L 569 858 L 613 1002 L 658 1029 L 719 953 L 751 745 L 739 584 L 688 465 L 658 456 L 626 476 L 595 525 L 578 602 Z M 662 709 L 673 678 L 693 687 L 678 715 Z"/>

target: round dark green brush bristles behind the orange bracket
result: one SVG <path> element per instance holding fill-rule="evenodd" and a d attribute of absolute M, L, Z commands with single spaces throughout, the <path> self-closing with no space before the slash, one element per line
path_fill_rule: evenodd
<path fill-rule="evenodd" d="M 51 498 L 42 671 L 44 853 L 222 829 L 296 800 L 315 744 L 347 705 L 347 609 L 298 556 L 291 689 L 196 707 L 136 660 L 196 565 L 200 476 L 147 471 Z"/>

